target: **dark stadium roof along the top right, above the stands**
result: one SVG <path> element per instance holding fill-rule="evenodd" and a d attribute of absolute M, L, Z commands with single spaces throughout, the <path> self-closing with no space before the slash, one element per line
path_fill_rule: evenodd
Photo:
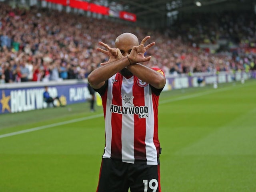
<path fill-rule="evenodd" d="M 114 0 L 136 14 L 138 21 L 166 18 L 171 11 L 218 12 L 220 10 L 253 9 L 254 0 Z M 196 1 L 202 6 L 196 6 Z M 254 2 L 255 3 L 255 2 Z"/>

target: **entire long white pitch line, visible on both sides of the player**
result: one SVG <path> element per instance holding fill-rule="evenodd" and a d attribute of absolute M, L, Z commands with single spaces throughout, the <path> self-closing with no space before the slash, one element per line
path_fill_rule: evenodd
<path fill-rule="evenodd" d="M 190 99 L 190 98 L 199 97 L 199 96 L 203 96 L 203 95 L 207 95 L 207 94 L 211 94 L 211 93 L 230 90 L 230 89 L 233 89 L 233 88 L 239 88 L 239 87 L 242 87 L 242 86 L 246 86 L 246 85 L 243 84 L 243 85 L 236 85 L 236 86 L 226 87 L 226 88 L 218 88 L 217 90 L 210 90 L 210 91 L 206 91 L 206 92 L 202 92 L 202 93 L 196 93 L 196 94 L 192 94 L 192 95 L 188 95 L 188 96 L 181 96 L 181 97 L 178 97 L 178 98 L 173 98 L 173 99 L 160 101 L 159 104 L 165 104 L 165 103 Z M 19 134 L 23 134 L 23 133 L 28 133 L 28 132 L 32 132 L 32 131 L 51 128 L 51 127 L 54 127 L 54 126 L 65 125 L 65 124 L 69 124 L 69 123 L 74 123 L 74 122 L 84 121 L 84 120 L 88 120 L 88 119 L 98 118 L 98 117 L 101 117 L 101 116 L 103 116 L 103 114 L 97 114 L 97 115 L 78 118 L 78 119 L 74 119 L 74 120 L 68 120 L 68 121 L 64 121 L 64 122 L 59 122 L 59 123 L 44 125 L 44 126 L 40 126 L 40 127 L 25 129 L 25 130 L 21 130 L 21 131 L 11 132 L 11 133 L 0 135 L 0 138 L 10 137 L 10 136 L 19 135 Z"/>

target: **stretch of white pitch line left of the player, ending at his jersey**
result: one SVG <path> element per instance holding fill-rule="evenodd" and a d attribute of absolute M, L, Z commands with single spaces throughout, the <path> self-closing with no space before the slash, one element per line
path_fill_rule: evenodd
<path fill-rule="evenodd" d="M 59 122 L 59 123 L 53 123 L 53 124 L 49 124 L 49 125 L 35 127 L 35 128 L 31 128 L 31 129 L 25 129 L 22 131 L 11 132 L 11 133 L 0 135 L 0 138 L 10 137 L 10 136 L 28 133 L 28 132 L 32 132 L 32 131 L 38 131 L 38 130 L 42 130 L 42 129 L 46 129 L 46 128 L 51 128 L 51 127 L 55 127 L 55 126 L 59 126 L 59 125 L 65 125 L 65 124 L 69 124 L 69 123 L 75 123 L 75 122 L 84 121 L 84 120 L 88 120 L 88 119 L 94 119 L 94 118 L 98 118 L 101 116 L 103 116 L 103 114 L 97 114 L 97 115 L 92 115 L 92 116 L 88 116 L 88 117 L 82 117 L 82 118 L 78 118 L 78 119 L 73 119 L 73 120 L 63 121 L 63 122 Z"/>

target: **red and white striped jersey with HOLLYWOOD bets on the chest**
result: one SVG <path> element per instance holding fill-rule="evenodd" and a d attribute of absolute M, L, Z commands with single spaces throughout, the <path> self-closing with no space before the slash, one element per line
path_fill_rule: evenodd
<path fill-rule="evenodd" d="M 159 164 L 158 99 L 162 89 L 153 88 L 136 76 L 125 78 L 117 73 L 96 91 L 102 97 L 105 118 L 103 158 Z"/>

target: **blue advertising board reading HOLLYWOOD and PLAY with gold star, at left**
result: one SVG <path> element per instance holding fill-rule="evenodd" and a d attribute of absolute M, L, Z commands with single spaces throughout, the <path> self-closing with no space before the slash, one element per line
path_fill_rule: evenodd
<path fill-rule="evenodd" d="M 16 113 L 46 108 L 43 92 L 44 86 L 30 88 L 11 88 L 0 90 L 0 114 Z M 90 98 L 87 84 L 48 86 L 51 97 L 59 96 L 64 105 L 85 102 Z M 59 105 L 55 100 L 56 106 Z"/>

